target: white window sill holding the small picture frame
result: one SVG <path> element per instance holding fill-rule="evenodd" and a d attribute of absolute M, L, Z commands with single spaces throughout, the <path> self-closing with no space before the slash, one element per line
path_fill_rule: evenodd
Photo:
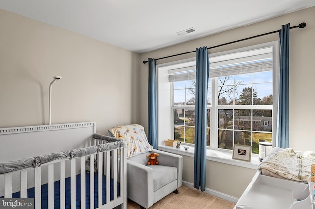
<path fill-rule="evenodd" d="M 194 157 L 195 148 L 193 146 L 188 146 L 188 147 L 189 149 L 185 150 L 183 145 L 181 145 L 180 149 L 171 147 L 171 146 L 166 146 L 166 145 L 159 145 L 158 149 L 162 151 Z M 258 155 L 252 155 L 251 162 L 246 162 L 246 161 L 232 159 L 231 152 L 224 152 L 224 151 L 215 150 L 215 149 L 207 149 L 207 160 L 235 165 L 235 166 L 244 167 L 244 168 L 250 168 L 254 170 L 257 170 L 257 167 L 260 164 L 260 161 L 258 160 Z"/>

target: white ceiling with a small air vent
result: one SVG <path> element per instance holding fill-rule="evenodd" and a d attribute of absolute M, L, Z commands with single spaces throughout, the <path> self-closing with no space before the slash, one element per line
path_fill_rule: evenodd
<path fill-rule="evenodd" d="M 0 0 L 0 9 L 138 53 L 312 6 L 315 0 Z"/>

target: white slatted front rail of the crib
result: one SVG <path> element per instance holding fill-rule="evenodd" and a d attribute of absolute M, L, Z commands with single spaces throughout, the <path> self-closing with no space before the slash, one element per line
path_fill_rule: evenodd
<path fill-rule="evenodd" d="M 102 143 L 101 140 L 95 141 L 97 144 Z M 87 159 L 90 162 L 86 164 Z M 95 163 L 98 169 L 98 175 L 92 175 L 95 171 Z M 47 184 L 47 200 L 48 209 L 54 209 L 54 183 L 59 181 L 60 191 L 60 209 L 64 209 L 66 203 L 66 183 L 65 179 L 70 178 L 70 203 L 71 208 L 75 208 L 77 202 L 76 195 L 76 175 L 80 174 L 80 205 L 81 209 L 86 207 L 86 165 L 90 167 L 90 209 L 94 209 L 97 204 L 97 208 L 111 209 L 118 205 L 122 205 L 122 208 L 126 209 L 126 145 L 124 147 L 101 151 L 95 154 L 82 157 L 73 157 L 71 159 L 58 159 L 51 162 L 41 164 L 35 168 L 27 168 L 10 173 L 0 174 L 0 181 L 4 181 L 4 197 L 12 198 L 12 194 L 19 191 L 21 198 L 28 197 L 28 189 L 34 187 L 34 201 L 35 209 L 41 209 L 42 205 L 42 186 Z M 106 176 L 106 202 L 103 204 L 103 176 Z M 95 203 L 95 178 L 97 178 L 98 184 L 98 200 Z M 113 188 L 111 188 L 111 181 L 113 181 Z M 19 183 L 19 186 L 14 186 L 14 183 Z M 13 189 L 12 189 L 13 188 Z M 1 188 L 0 188 L 1 189 Z M 119 194 L 118 194 L 119 190 Z M 111 191 L 113 198 L 111 199 Z M 0 196 L 2 196 L 0 194 Z"/>

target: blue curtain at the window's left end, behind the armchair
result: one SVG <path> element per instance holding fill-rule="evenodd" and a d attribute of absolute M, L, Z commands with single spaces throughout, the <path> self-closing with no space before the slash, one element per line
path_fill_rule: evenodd
<path fill-rule="evenodd" d="M 154 149 L 158 149 L 156 61 L 152 58 L 149 58 L 148 63 L 148 142 L 153 146 Z"/>

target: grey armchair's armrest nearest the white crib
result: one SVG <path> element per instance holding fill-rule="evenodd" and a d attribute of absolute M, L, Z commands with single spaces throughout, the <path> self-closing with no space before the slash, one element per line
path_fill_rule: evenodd
<path fill-rule="evenodd" d="M 127 196 L 145 208 L 153 205 L 152 168 L 127 160 Z"/>

